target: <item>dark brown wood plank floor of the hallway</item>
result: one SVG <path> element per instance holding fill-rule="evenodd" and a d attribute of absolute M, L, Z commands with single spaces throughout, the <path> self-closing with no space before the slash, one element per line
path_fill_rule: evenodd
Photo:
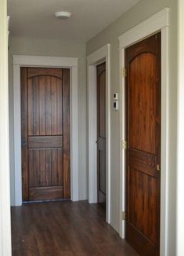
<path fill-rule="evenodd" d="M 12 207 L 13 256 L 138 255 L 86 201 Z"/>

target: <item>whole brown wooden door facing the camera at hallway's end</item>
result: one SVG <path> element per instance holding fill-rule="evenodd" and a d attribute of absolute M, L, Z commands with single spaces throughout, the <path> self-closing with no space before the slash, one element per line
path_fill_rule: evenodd
<path fill-rule="evenodd" d="M 70 70 L 21 68 L 23 201 L 70 199 Z"/>

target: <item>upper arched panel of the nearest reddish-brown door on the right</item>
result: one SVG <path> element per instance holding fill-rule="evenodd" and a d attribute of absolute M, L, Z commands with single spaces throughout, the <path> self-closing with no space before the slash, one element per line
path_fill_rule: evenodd
<path fill-rule="evenodd" d="M 153 53 L 141 53 L 132 60 L 129 67 L 130 95 L 129 130 L 130 148 L 143 152 L 156 153 L 156 92 L 157 56 Z M 139 78 L 139 79 L 138 79 Z"/>

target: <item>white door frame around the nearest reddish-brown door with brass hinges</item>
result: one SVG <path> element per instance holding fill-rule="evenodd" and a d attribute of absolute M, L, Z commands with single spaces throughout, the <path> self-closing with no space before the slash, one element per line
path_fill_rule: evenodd
<path fill-rule="evenodd" d="M 161 31 L 161 255 L 167 255 L 168 241 L 168 32 L 169 32 L 169 9 L 153 15 L 150 19 L 133 27 L 119 37 L 120 42 L 120 138 L 126 139 L 125 133 L 125 91 L 122 69 L 124 68 L 124 49 L 135 42 Z M 122 211 L 125 210 L 125 153 L 120 148 L 120 236 L 124 238 L 125 221 L 122 221 Z"/>

